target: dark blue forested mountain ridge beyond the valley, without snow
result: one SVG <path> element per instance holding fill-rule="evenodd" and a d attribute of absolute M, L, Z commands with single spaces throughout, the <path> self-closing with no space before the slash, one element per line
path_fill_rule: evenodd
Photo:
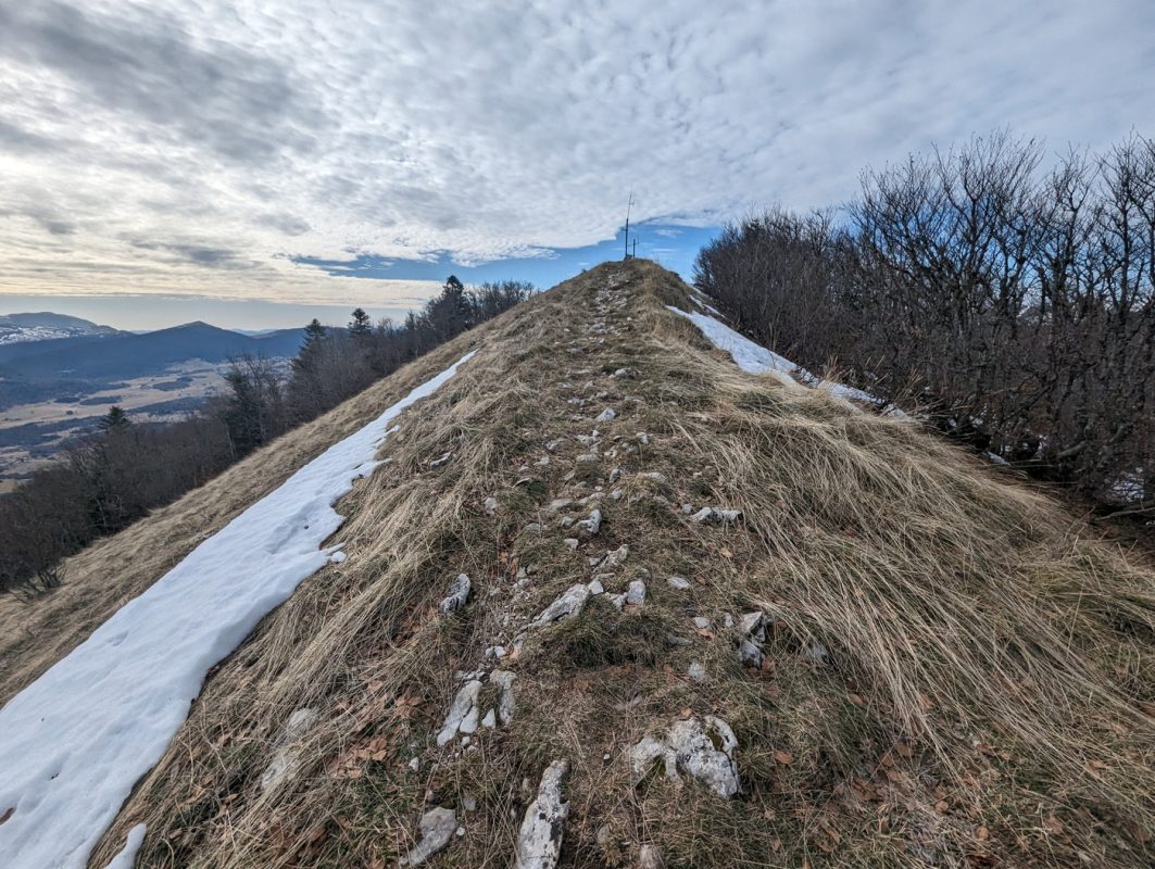
<path fill-rule="evenodd" d="M 21 347 L 15 353 L 5 353 L 7 349 L 0 347 L 0 374 L 30 380 L 127 380 L 155 374 L 189 359 L 221 362 L 245 353 L 269 358 L 293 357 L 303 338 L 301 329 L 249 336 L 201 322 L 144 335 L 81 335 L 40 342 L 38 347 Z"/>

